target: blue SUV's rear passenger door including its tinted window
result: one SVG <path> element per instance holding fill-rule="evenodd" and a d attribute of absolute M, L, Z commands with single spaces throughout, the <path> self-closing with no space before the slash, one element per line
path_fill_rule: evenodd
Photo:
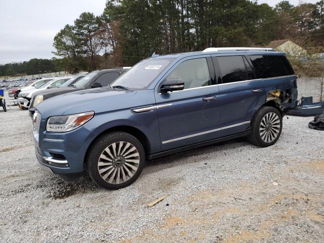
<path fill-rule="evenodd" d="M 264 81 L 256 77 L 244 55 L 215 56 L 213 61 L 221 76 L 221 135 L 248 130 L 253 114 L 266 98 Z"/>

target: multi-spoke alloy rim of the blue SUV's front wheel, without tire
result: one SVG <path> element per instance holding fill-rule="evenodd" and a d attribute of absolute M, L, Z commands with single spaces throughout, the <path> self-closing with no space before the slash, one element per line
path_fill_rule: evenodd
<path fill-rule="evenodd" d="M 129 142 L 115 142 L 106 147 L 98 160 L 98 172 L 103 180 L 120 184 L 131 179 L 140 163 L 137 148 Z"/>

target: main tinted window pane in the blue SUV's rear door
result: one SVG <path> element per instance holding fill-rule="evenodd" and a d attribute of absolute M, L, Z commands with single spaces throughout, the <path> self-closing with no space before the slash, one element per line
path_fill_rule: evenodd
<path fill-rule="evenodd" d="M 246 66 L 242 56 L 217 57 L 223 84 L 247 80 Z"/>

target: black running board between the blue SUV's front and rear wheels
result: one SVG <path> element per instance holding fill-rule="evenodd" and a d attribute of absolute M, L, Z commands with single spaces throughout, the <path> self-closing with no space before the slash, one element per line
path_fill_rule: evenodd
<path fill-rule="evenodd" d="M 216 138 L 213 140 L 208 140 L 206 142 L 200 142 L 200 143 L 195 143 L 195 144 L 191 144 L 191 145 L 187 145 L 187 146 L 183 146 L 183 147 L 179 147 L 179 148 L 173 148 L 170 150 L 166 150 L 163 152 L 158 152 L 158 153 L 152 153 L 152 154 L 148 154 L 146 156 L 147 159 L 154 159 L 154 158 L 159 158 L 159 157 L 163 157 L 163 156 L 167 156 L 167 155 L 171 155 L 174 153 L 179 153 L 179 152 L 183 152 L 189 149 L 194 149 L 194 148 L 199 148 L 199 147 L 203 147 L 203 146 L 207 146 L 207 145 L 211 145 L 211 144 L 215 144 L 215 143 L 219 143 L 219 142 L 223 142 L 223 141 L 227 141 L 227 140 L 231 140 L 231 139 L 235 139 L 235 138 L 239 138 L 239 137 L 244 137 L 247 136 L 251 133 L 251 131 L 245 131 L 242 133 L 237 133 L 237 134 L 233 134 L 233 135 L 229 135 L 226 137 L 221 137 L 221 138 Z"/>

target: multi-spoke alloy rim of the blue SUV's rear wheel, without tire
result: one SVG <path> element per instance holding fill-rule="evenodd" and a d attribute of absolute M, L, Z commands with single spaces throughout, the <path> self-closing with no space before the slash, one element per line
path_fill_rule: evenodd
<path fill-rule="evenodd" d="M 273 142 L 279 135 L 280 127 L 280 119 L 276 113 L 269 112 L 265 114 L 260 124 L 261 139 L 266 143 Z"/>

